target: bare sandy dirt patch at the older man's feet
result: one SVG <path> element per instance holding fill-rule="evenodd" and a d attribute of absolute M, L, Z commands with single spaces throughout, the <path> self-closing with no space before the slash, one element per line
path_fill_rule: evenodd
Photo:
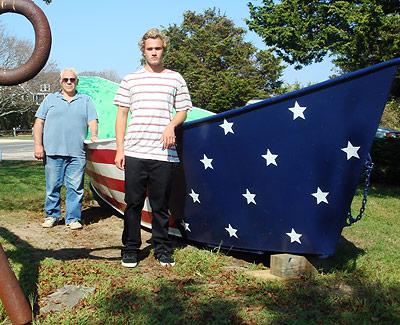
<path fill-rule="evenodd" d="M 123 221 L 100 207 L 92 206 L 83 210 L 83 229 L 70 230 L 62 222 L 53 228 L 43 228 L 43 215 L 34 212 L 0 211 L 2 233 L 13 240 L 25 242 L 37 251 L 57 251 L 57 255 L 71 257 L 76 252 L 102 258 L 121 256 L 121 235 Z M 151 234 L 142 230 L 143 247 Z"/>

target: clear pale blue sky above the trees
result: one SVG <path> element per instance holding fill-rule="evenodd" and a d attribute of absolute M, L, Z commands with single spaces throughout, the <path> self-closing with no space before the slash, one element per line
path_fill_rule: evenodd
<path fill-rule="evenodd" d="M 49 20 L 53 38 L 50 57 L 60 68 L 115 70 L 121 77 L 140 66 L 137 42 L 143 33 L 151 27 L 181 24 L 187 10 L 201 13 L 215 7 L 248 30 L 244 22 L 249 18 L 248 0 L 53 0 L 51 5 L 41 0 L 34 2 Z M 10 34 L 33 42 L 33 28 L 25 17 L 7 13 L 0 16 L 0 22 Z M 253 32 L 247 32 L 246 40 L 265 48 Z M 331 69 L 329 61 L 302 70 L 288 67 L 282 79 L 288 83 L 315 83 L 328 79 Z"/>

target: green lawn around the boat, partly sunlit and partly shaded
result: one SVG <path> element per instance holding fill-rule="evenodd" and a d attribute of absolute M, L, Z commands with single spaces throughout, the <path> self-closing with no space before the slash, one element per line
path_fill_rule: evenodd
<path fill-rule="evenodd" d="M 41 213 L 40 164 L 2 162 L 0 179 L 2 213 Z M 360 204 L 361 191 L 354 214 Z M 172 269 L 150 256 L 147 265 L 126 270 L 112 259 L 40 256 L 2 227 L 0 242 L 34 301 L 64 284 L 96 288 L 72 310 L 38 314 L 36 324 L 398 324 L 399 211 L 400 188 L 373 186 L 364 218 L 343 230 L 336 254 L 310 257 L 318 275 L 285 282 L 253 278 L 245 271 L 265 266 L 241 261 L 232 268 L 233 257 L 192 246 L 175 251 Z"/>

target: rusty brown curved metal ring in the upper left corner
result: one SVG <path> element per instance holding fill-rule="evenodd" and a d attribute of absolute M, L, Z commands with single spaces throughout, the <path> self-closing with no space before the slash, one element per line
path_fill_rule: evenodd
<path fill-rule="evenodd" d="M 14 86 L 32 79 L 45 66 L 50 55 L 51 31 L 45 14 L 31 0 L 0 0 L 0 15 L 6 12 L 25 16 L 35 31 L 35 48 L 28 61 L 14 69 L 0 68 L 0 85 Z"/>

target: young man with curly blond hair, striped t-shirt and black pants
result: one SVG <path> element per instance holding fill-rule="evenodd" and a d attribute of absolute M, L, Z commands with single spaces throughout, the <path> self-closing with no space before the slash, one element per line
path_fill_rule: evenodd
<path fill-rule="evenodd" d="M 125 170 L 122 265 L 136 267 L 138 264 L 140 218 L 147 194 L 152 209 L 155 257 L 162 266 L 173 266 L 168 202 L 173 168 L 179 162 L 175 128 L 185 121 L 192 102 L 182 76 L 163 66 L 166 37 L 158 29 L 150 29 L 143 35 L 139 47 L 145 65 L 121 81 L 114 99 L 118 106 L 115 164 Z M 125 137 L 129 110 L 132 115 Z"/>

